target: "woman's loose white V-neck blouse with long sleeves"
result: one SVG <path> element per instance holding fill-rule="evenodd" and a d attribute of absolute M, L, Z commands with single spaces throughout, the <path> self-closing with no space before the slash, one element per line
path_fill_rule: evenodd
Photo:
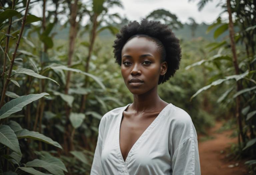
<path fill-rule="evenodd" d="M 128 105 L 102 117 L 91 175 L 201 174 L 193 122 L 187 112 L 171 103 L 143 132 L 124 161 L 119 131 L 123 111 Z"/>

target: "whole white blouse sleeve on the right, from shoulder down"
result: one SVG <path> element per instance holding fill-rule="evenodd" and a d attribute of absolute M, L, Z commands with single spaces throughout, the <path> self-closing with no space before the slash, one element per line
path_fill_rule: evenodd
<path fill-rule="evenodd" d="M 191 117 L 177 109 L 171 127 L 171 167 L 173 175 L 200 175 L 197 133 Z M 174 114 L 174 115 L 175 115 Z"/>

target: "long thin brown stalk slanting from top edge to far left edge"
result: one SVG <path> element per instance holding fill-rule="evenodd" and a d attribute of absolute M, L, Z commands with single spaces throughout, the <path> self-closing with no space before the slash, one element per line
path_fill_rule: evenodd
<path fill-rule="evenodd" d="M 10 82 L 10 77 L 11 77 L 11 74 L 12 74 L 12 67 L 13 67 L 13 64 L 14 64 L 14 60 L 16 58 L 17 50 L 18 50 L 18 47 L 19 47 L 19 44 L 20 44 L 20 40 L 21 40 L 23 31 L 24 31 L 24 27 L 25 27 L 25 22 L 26 22 L 26 19 L 27 19 L 29 3 L 30 3 L 30 0 L 27 1 L 27 5 L 26 5 L 26 9 L 25 9 L 25 14 L 24 14 L 24 17 L 22 19 L 22 25 L 21 25 L 19 37 L 18 37 L 18 40 L 17 40 L 17 43 L 16 43 L 16 47 L 15 47 L 13 55 L 12 55 L 12 60 L 11 60 L 8 76 L 7 76 L 6 80 L 5 80 L 5 84 L 4 84 L 4 87 L 3 87 L 3 92 L 2 92 L 1 101 L 0 101 L 0 108 L 4 104 L 5 93 L 6 93 L 7 86 L 9 84 L 9 82 Z"/>

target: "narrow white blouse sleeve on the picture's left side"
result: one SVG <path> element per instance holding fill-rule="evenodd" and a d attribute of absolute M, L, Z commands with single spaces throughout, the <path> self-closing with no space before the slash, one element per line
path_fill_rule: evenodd
<path fill-rule="evenodd" d="M 102 119 L 100 120 L 98 140 L 97 140 L 97 145 L 94 152 L 90 175 L 103 174 L 102 165 L 101 165 L 101 152 L 102 152 L 102 140 L 103 140 L 104 130 L 105 130 L 105 118 L 103 116 Z"/>

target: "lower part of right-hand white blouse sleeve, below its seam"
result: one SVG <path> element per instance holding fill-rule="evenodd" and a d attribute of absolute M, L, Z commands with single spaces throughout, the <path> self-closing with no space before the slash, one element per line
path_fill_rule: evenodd
<path fill-rule="evenodd" d="M 190 137 L 181 143 L 172 157 L 173 175 L 200 175 L 197 140 Z"/>

